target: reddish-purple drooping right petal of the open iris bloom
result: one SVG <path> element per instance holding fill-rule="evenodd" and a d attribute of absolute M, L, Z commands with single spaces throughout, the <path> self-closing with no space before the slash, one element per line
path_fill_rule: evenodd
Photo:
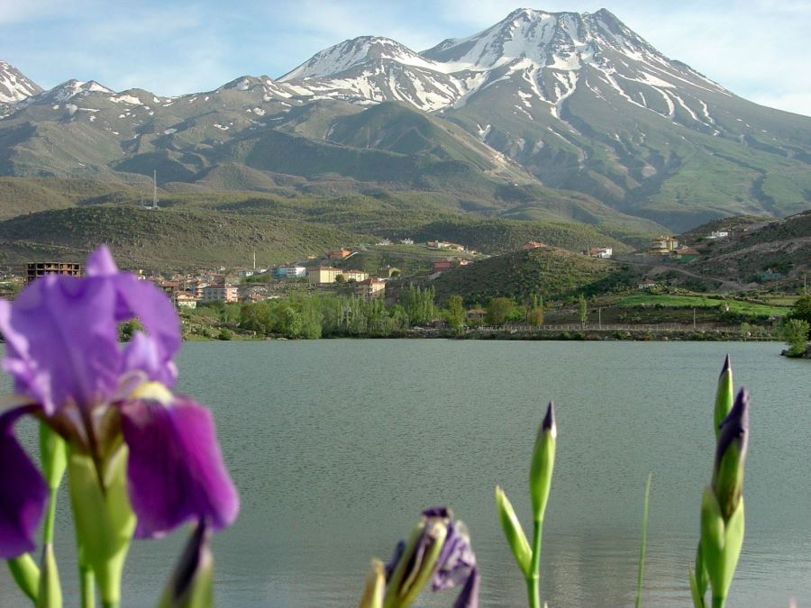
<path fill-rule="evenodd" d="M 208 410 L 183 396 L 169 405 L 132 401 L 121 421 L 136 537 L 158 537 L 187 520 L 219 530 L 236 519 L 239 497 Z"/>

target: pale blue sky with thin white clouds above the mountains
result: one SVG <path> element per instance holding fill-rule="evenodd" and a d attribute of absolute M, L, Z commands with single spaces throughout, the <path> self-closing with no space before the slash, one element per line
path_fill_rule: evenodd
<path fill-rule="evenodd" d="M 180 95 L 282 76 L 356 36 L 425 50 L 519 7 L 607 8 L 735 94 L 811 116 L 811 0 L 0 0 L 0 59 L 45 88 L 77 78 Z"/>

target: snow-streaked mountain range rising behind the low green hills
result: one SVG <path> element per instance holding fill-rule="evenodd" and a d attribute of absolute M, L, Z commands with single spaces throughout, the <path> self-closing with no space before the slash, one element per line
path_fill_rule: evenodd
<path fill-rule="evenodd" d="M 151 175 L 159 165 L 165 180 L 196 182 L 227 164 L 222 175 L 245 190 L 276 179 L 261 172 L 408 176 L 407 187 L 432 189 L 451 174 L 469 185 L 459 171 L 475 168 L 679 230 L 731 213 L 797 213 L 811 192 L 811 119 L 734 95 L 605 9 L 518 9 L 423 52 L 364 36 L 278 79 L 176 97 L 76 80 L 37 89 L 0 63 L 0 141 L 14 142 L 0 149 L 2 174 Z M 551 204 L 515 196 L 515 218 Z"/>

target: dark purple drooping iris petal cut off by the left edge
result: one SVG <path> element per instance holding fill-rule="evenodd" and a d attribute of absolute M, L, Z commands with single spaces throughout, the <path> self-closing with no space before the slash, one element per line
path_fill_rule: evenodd
<path fill-rule="evenodd" d="M 14 422 L 32 406 L 0 415 L 0 558 L 16 558 L 34 549 L 48 487 L 31 458 L 14 438 Z"/>

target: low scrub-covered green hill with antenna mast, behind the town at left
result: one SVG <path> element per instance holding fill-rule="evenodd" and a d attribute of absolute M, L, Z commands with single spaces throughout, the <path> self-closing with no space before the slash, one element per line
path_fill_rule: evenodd
<path fill-rule="evenodd" d="M 368 235 L 329 226 L 234 213 L 93 206 L 0 222 L 0 263 L 83 260 L 107 243 L 122 266 L 183 269 L 262 266 L 318 255 Z"/>

